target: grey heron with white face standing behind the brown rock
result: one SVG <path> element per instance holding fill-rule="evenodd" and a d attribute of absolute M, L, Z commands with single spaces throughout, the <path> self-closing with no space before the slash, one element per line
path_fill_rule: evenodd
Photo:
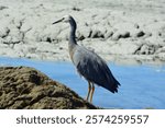
<path fill-rule="evenodd" d="M 68 50 L 70 59 L 77 69 L 77 72 L 88 81 L 88 93 L 86 101 L 92 102 L 95 84 L 107 89 L 112 93 L 118 92 L 120 83 L 113 77 L 107 62 L 95 51 L 88 50 L 76 42 L 76 21 L 72 15 L 65 15 L 53 24 L 65 22 L 70 24 L 70 33 L 68 39 Z"/>

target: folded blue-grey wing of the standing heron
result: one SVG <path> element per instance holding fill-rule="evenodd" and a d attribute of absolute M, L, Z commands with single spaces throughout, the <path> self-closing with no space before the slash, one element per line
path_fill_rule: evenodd
<path fill-rule="evenodd" d="M 120 83 L 112 75 L 106 61 L 97 54 L 78 46 L 74 53 L 73 61 L 78 72 L 85 79 L 101 85 L 113 93 L 118 92 L 118 85 Z"/>

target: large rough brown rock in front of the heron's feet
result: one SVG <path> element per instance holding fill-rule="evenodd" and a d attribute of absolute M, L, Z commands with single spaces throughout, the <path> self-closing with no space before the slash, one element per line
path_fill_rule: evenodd
<path fill-rule="evenodd" d="M 97 108 L 67 86 L 29 67 L 0 67 L 1 109 Z"/>

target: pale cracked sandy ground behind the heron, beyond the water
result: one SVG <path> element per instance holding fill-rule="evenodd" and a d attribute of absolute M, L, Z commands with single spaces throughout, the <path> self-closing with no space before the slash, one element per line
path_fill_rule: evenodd
<path fill-rule="evenodd" d="M 1 0 L 0 56 L 69 60 L 69 25 L 77 42 L 116 62 L 165 61 L 164 0 Z"/>

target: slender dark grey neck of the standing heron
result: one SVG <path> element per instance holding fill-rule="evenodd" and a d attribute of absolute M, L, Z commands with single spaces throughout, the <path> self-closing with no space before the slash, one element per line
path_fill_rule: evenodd
<path fill-rule="evenodd" d="M 77 28 L 76 22 L 74 19 L 72 19 L 69 23 L 70 23 L 69 45 L 77 45 L 75 35 Z"/>

